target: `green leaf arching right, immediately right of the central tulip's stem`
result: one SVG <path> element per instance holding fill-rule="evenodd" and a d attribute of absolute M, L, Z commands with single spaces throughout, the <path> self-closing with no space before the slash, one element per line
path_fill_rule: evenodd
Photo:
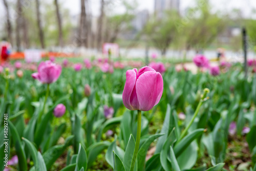
<path fill-rule="evenodd" d="M 138 170 L 144 170 L 145 168 L 145 160 L 146 160 L 146 153 L 148 148 L 150 147 L 151 143 L 157 139 L 158 137 L 163 136 L 164 134 L 155 134 L 146 139 L 146 141 L 141 145 L 138 152 Z"/>

